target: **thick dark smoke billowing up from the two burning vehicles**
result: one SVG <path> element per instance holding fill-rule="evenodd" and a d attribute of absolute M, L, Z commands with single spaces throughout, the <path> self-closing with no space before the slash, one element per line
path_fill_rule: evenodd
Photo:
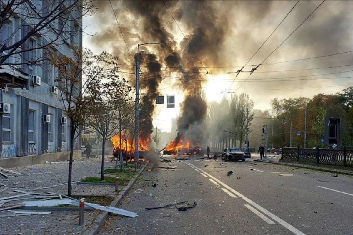
<path fill-rule="evenodd" d="M 99 2 L 99 7 L 107 10 L 109 2 Z M 148 139 L 153 131 L 152 114 L 155 98 L 163 76 L 163 64 L 177 67 L 170 70 L 183 77 L 177 84 L 185 93 L 178 120 L 176 141 L 187 139 L 191 144 L 202 144 L 203 122 L 207 115 L 207 105 L 202 98 L 202 75 L 207 72 L 202 64 L 217 66 L 222 63 L 219 50 L 227 32 L 227 18 L 220 17 L 212 1 L 167 1 L 166 5 L 173 12 L 177 21 L 188 28 L 181 43 L 177 43 L 173 30 L 178 29 L 162 1 L 123 1 L 121 3 L 127 15 L 138 22 L 138 43 L 157 42 L 165 46 L 158 48 L 157 56 L 140 56 L 142 61 L 140 127 L 141 137 Z M 126 15 L 126 14 L 125 14 Z M 142 32 L 141 32 L 142 30 Z M 192 48 L 192 49 L 191 49 Z M 148 52 L 147 52 L 148 53 Z M 201 62 L 202 63 L 201 63 Z"/>

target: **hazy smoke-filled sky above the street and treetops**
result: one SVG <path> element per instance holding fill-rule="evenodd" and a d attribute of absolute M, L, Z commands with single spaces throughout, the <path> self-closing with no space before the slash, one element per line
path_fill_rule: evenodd
<path fill-rule="evenodd" d="M 224 92 L 228 96 L 246 92 L 254 108 L 264 110 L 270 109 L 273 98 L 311 98 L 353 86 L 353 52 L 325 56 L 353 50 L 353 1 L 325 1 L 251 76 L 244 72 L 237 77 L 234 72 L 246 64 L 297 1 L 166 1 L 177 23 L 162 1 L 111 2 L 132 56 L 138 43 L 167 42 L 172 51 L 178 51 L 180 65 L 201 67 L 183 71 L 192 74 L 188 79 L 201 84 L 207 100 L 220 100 Z M 261 63 L 321 2 L 299 1 L 243 70 Z M 135 71 L 133 61 L 109 1 L 97 1 L 97 6 L 97 14 L 84 18 L 89 35 L 84 35 L 83 46 L 119 56 L 120 76 L 134 81 L 134 75 L 129 74 Z M 174 109 L 164 104 L 155 110 L 154 125 L 166 131 L 184 99 L 185 73 L 166 65 L 162 59 L 167 55 L 165 48 L 153 45 L 140 49 L 161 58 L 159 93 L 175 95 Z M 303 58 L 311 59 L 291 61 Z M 283 61 L 289 62 L 278 63 Z M 141 70 L 143 79 L 145 69 Z"/>

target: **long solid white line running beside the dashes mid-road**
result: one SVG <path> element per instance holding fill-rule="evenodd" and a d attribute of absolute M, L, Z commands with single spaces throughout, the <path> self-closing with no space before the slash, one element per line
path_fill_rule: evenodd
<path fill-rule="evenodd" d="M 190 166 L 194 166 L 192 164 L 190 164 Z M 196 166 L 194 166 L 195 168 L 197 168 Z M 291 231 L 292 233 L 294 233 L 295 235 L 305 235 L 305 233 L 303 233 L 302 231 L 294 228 L 292 225 L 288 224 L 286 221 L 284 221 L 283 219 L 281 219 L 280 217 L 277 217 L 276 215 L 272 214 L 270 211 L 266 210 L 265 208 L 263 208 L 262 206 L 258 205 L 257 203 L 255 203 L 254 201 L 252 201 L 251 199 L 245 197 L 243 194 L 239 193 L 238 191 L 235 191 L 233 188 L 229 187 L 228 185 L 226 185 L 225 183 L 223 183 L 222 181 L 220 181 L 219 179 L 213 177 L 212 175 L 210 175 L 209 173 L 203 171 L 200 168 L 199 171 L 201 171 L 202 173 L 204 173 L 205 175 L 207 175 L 208 177 L 210 177 L 211 179 L 213 179 L 212 181 L 215 181 L 215 183 L 218 183 L 220 185 L 222 185 L 223 187 L 227 188 L 230 192 L 234 193 L 235 195 L 237 195 L 240 198 L 243 198 L 247 203 L 249 203 L 250 205 L 252 205 L 253 207 L 255 207 L 256 209 L 258 209 L 259 211 L 261 211 L 263 214 L 267 215 L 268 217 L 270 217 L 271 219 L 273 219 L 274 221 L 276 221 L 277 223 L 281 224 L 283 227 L 285 227 L 286 229 L 288 229 L 289 231 Z M 209 179 L 209 180 L 211 180 Z"/>

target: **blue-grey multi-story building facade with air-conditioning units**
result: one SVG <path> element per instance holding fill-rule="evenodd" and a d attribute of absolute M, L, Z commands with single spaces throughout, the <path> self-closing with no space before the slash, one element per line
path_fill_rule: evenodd
<path fill-rule="evenodd" d="M 46 0 L 29 2 L 33 11 L 45 11 Z M 67 4 L 70 2 L 67 1 Z M 61 40 L 60 44 L 53 43 L 50 49 L 59 55 L 70 56 L 70 45 L 82 47 L 82 18 L 71 14 L 79 12 L 67 14 L 70 24 L 64 24 L 60 19 L 54 20 L 50 24 L 51 30 L 33 35 L 25 46 L 33 48 L 33 45 L 44 45 L 53 37 L 60 37 L 58 29 L 68 27 L 70 36 L 67 40 Z M 9 37 L 18 41 L 25 30 L 31 30 L 22 24 L 25 20 L 28 19 L 14 13 L 2 26 L 1 41 Z M 16 31 L 19 25 L 23 25 L 23 29 Z M 57 70 L 48 60 L 37 65 L 11 65 L 16 60 L 30 61 L 43 56 L 43 49 L 29 50 L 8 58 L 7 64 L 0 64 L 0 166 L 14 167 L 68 159 L 70 120 L 65 117 L 55 81 L 58 78 Z M 80 149 L 80 138 L 74 142 L 74 149 Z M 75 151 L 75 155 L 78 154 L 80 150 Z"/>

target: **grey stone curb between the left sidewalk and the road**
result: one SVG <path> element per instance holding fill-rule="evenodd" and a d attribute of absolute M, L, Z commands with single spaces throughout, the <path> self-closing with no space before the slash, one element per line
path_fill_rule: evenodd
<path fill-rule="evenodd" d="M 148 165 L 145 164 L 144 167 L 142 167 L 142 169 L 140 170 L 140 172 L 130 181 L 130 183 L 128 183 L 122 190 L 120 190 L 118 197 L 115 198 L 112 202 L 112 204 L 110 204 L 110 206 L 116 206 L 118 205 L 121 200 L 124 198 L 124 196 L 127 194 L 127 192 L 130 190 L 130 188 L 132 187 L 132 185 L 135 183 L 135 181 L 137 180 L 137 178 L 140 176 L 140 174 L 144 171 L 144 169 L 146 168 L 146 166 Z M 106 221 L 106 219 L 108 218 L 109 212 L 104 211 L 103 214 L 98 216 L 98 222 L 94 223 L 94 225 L 92 226 L 92 228 L 86 230 L 84 232 L 84 234 L 91 234 L 91 235 L 96 235 L 98 234 L 98 231 L 102 225 L 102 223 L 104 221 Z"/>

